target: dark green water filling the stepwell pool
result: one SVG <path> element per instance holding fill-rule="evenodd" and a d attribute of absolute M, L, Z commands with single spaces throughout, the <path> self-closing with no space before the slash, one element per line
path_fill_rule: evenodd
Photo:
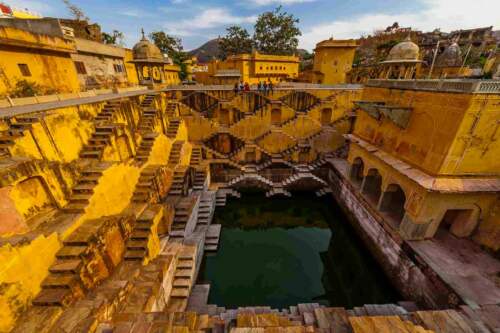
<path fill-rule="evenodd" d="M 218 207 L 213 223 L 223 225 L 219 250 L 199 278 L 211 284 L 210 304 L 352 308 L 400 300 L 331 197 L 246 194 Z"/>

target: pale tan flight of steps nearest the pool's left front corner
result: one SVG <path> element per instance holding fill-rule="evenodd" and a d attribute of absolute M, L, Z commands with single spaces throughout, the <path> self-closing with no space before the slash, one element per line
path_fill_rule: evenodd
<path fill-rule="evenodd" d="M 172 283 L 172 291 L 167 304 L 167 311 L 184 311 L 195 281 L 196 248 L 183 247 L 177 257 L 177 266 Z"/>

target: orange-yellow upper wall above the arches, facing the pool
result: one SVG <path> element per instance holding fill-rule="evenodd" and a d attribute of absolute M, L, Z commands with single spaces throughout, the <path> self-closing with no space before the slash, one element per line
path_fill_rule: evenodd
<path fill-rule="evenodd" d="M 363 101 L 385 101 L 389 105 L 412 107 L 410 122 L 401 129 L 392 121 L 377 121 L 357 111 L 354 134 L 425 172 L 445 171 L 443 162 L 457 139 L 472 95 L 365 87 Z"/>

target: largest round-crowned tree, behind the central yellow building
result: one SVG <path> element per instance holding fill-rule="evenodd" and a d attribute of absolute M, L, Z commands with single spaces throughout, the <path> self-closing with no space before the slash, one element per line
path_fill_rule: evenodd
<path fill-rule="evenodd" d="M 289 55 L 297 50 L 298 36 L 302 35 L 299 19 L 277 7 L 259 15 L 253 35 L 257 49 L 266 54 Z"/>

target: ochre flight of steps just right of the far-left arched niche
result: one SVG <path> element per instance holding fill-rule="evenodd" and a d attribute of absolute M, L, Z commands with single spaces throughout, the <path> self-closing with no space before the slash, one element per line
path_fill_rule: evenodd
<path fill-rule="evenodd" d="M 78 182 L 71 189 L 68 204 L 62 208 L 62 211 L 68 214 L 84 213 L 90 198 L 94 194 L 94 188 L 99 182 L 99 178 L 109 166 L 108 163 L 100 163 L 83 170 Z"/>

